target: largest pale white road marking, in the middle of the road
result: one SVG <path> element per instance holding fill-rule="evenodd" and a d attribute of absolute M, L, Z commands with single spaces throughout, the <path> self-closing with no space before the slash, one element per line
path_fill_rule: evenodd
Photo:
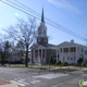
<path fill-rule="evenodd" d="M 46 74 L 46 75 L 37 75 L 37 76 L 33 76 L 34 78 L 47 78 L 47 79 L 52 79 L 52 78 L 57 78 L 57 77 L 61 77 L 61 76 L 67 76 L 69 74 L 61 74 L 61 73 L 57 73 L 57 74 Z"/>

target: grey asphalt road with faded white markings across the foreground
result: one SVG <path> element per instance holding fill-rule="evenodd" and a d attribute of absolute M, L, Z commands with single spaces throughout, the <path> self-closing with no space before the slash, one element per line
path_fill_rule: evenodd
<path fill-rule="evenodd" d="M 79 80 L 87 79 L 87 75 L 0 67 L 0 78 L 15 83 L 20 87 L 79 87 Z"/>

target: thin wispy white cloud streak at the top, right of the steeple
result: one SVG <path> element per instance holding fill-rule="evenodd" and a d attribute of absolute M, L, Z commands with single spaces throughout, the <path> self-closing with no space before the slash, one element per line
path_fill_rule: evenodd
<path fill-rule="evenodd" d="M 46 0 L 46 1 L 55 5 L 57 8 L 67 9 L 67 10 L 75 12 L 76 14 L 80 15 L 80 11 L 76 7 L 66 2 L 65 0 Z"/>

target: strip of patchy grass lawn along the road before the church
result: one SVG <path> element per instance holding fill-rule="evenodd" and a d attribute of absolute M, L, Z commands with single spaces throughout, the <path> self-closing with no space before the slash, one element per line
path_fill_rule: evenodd
<path fill-rule="evenodd" d="M 9 64 L 5 64 L 7 66 L 9 66 Z M 25 64 L 10 64 L 11 67 L 25 67 Z M 77 71 L 77 69 L 73 69 L 73 67 L 65 67 L 64 66 L 57 66 L 57 65 L 28 65 L 27 69 L 35 69 L 35 70 L 48 70 L 50 72 L 74 72 Z"/>

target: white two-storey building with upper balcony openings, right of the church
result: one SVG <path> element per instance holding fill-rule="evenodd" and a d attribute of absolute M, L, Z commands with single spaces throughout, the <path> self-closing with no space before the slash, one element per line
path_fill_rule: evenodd
<path fill-rule="evenodd" d="M 75 44 L 74 40 L 71 40 L 71 42 L 64 41 L 58 45 L 58 49 L 59 60 L 61 62 L 76 64 L 79 58 L 83 59 L 84 62 L 87 62 L 87 47 L 79 44 Z"/>

